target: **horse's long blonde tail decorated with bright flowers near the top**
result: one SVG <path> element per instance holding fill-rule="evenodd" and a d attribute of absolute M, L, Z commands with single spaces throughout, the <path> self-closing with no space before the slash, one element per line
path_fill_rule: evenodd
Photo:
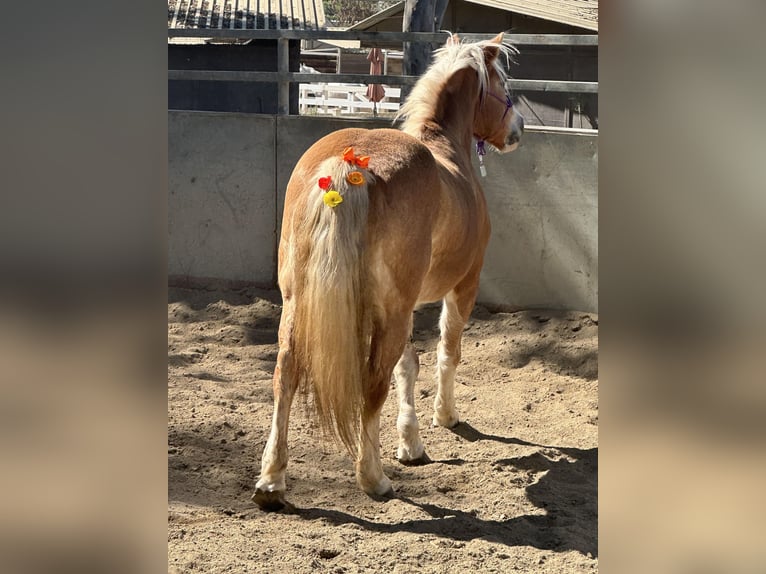
<path fill-rule="evenodd" d="M 347 177 L 359 172 L 363 181 Z M 352 180 L 354 178 L 352 174 Z M 329 190 L 319 178 L 329 177 Z M 356 180 L 358 182 L 358 180 Z M 340 158 L 329 159 L 309 182 L 300 233 L 294 337 L 297 365 L 313 390 L 317 418 L 354 454 L 367 386 L 370 321 L 365 265 L 368 185 L 372 176 Z M 342 202 L 331 207 L 325 193 Z M 337 200 L 337 195 L 334 195 Z"/>

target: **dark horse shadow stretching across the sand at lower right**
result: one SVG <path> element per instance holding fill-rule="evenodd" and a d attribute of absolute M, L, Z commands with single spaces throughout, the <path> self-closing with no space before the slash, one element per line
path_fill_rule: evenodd
<path fill-rule="evenodd" d="M 481 538 L 507 546 L 576 550 L 594 557 L 598 555 L 598 449 L 536 445 L 520 439 L 486 435 L 466 423 L 458 425 L 453 432 L 470 441 L 496 440 L 505 444 L 540 447 L 542 452 L 496 460 L 494 465 L 517 471 L 544 472 L 537 482 L 526 488 L 526 494 L 529 501 L 545 513 L 506 520 L 485 520 L 469 512 L 415 501 L 402 495 L 397 495 L 396 499 L 421 509 L 431 518 L 384 524 L 323 508 L 293 507 L 290 512 L 305 520 L 324 519 L 336 525 L 356 524 L 373 532 L 404 531 L 459 541 Z M 449 463 L 432 461 L 430 464 Z"/>

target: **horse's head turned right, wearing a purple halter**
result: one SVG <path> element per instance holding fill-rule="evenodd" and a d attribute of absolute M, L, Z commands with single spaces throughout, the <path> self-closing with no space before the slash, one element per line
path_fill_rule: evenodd
<path fill-rule="evenodd" d="M 474 114 L 473 133 L 478 140 L 506 153 L 518 147 L 524 133 L 524 118 L 513 106 L 505 87 L 505 74 L 497 62 L 502 46 L 501 32 L 483 48 L 487 76 Z"/>

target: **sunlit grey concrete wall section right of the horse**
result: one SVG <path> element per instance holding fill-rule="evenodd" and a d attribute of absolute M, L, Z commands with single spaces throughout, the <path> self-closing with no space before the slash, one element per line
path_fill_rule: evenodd
<path fill-rule="evenodd" d="M 598 138 L 527 130 L 488 154 L 483 185 L 492 238 L 479 300 L 598 310 Z"/>

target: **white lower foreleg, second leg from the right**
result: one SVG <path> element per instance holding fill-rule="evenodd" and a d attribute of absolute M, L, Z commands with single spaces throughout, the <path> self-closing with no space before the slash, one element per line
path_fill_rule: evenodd
<path fill-rule="evenodd" d="M 399 416 L 396 419 L 399 448 L 396 458 L 405 462 L 419 459 L 424 450 L 420 440 L 418 417 L 415 414 L 415 381 L 419 370 L 417 353 L 412 345 L 408 344 L 394 368 L 396 393 L 399 397 Z"/>

